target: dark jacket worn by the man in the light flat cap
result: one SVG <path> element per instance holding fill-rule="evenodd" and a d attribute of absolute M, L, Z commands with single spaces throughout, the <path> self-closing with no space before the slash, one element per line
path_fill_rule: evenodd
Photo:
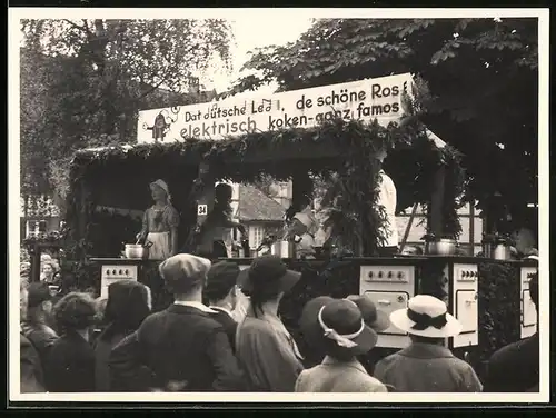
<path fill-rule="evenodd" d="M 192 306 L 172 305 L 149 316 L 110 356 L 116 381 L 137 376 L 138 366 L 151 370 L 151 387 L 162 390 L 172 382 L 180 385 L 176 391 L 246 389 L 222 326 Z"/>

